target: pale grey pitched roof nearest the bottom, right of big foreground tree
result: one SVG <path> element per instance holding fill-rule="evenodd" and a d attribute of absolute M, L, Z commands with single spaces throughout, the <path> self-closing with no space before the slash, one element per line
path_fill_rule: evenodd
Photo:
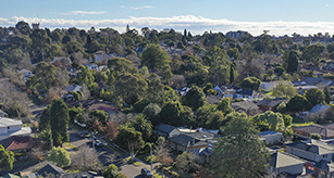
<path fill-rule="evenodd" d="M 276 152 L 272 154 L 270 165 L 275 168 L 288 167 L 294 165 L 305 164 L 307 161 L 285 152 Z"/>

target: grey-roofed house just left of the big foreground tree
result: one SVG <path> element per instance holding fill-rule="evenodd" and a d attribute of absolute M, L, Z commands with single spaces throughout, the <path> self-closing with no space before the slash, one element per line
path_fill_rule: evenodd
<path fill-rule="evenodd" d="M 183 132 L 169 138 L 171 148 L 180 151 L 190 151 L 208 148 L 214 135 L 208 131 L 197 130 L 196 132 Z"/>

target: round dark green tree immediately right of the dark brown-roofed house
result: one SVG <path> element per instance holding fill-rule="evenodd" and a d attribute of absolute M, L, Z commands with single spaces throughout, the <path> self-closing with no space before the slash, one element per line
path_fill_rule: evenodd
<path fill-rule="evenodd" d="M 286 104 L 286 110 L 289 112 L 301 112 L 309 109 L 309 101 L 306 97 L 296 94 Z"/>

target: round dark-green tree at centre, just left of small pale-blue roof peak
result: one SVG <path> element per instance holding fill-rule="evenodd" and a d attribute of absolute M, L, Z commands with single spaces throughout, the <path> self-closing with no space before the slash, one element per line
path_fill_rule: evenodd
<path fill-rule="evenodd" d="M 193 111 L 197 111 L 206 104 L 207 98 L 201 88 L 193 86 L 187 94 L 183 97 L 183 102 L 185 105 L 190 106 Z"/>

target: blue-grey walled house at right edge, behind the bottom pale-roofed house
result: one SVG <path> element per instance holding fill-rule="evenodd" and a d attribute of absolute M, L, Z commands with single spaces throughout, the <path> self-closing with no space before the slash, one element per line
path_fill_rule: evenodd
<path fill-rule="evenodd" d="M 332 162 L 334 147 L 319 140 L 294 142 L 286 145 L 286 152 L 312 162 Z"/>

